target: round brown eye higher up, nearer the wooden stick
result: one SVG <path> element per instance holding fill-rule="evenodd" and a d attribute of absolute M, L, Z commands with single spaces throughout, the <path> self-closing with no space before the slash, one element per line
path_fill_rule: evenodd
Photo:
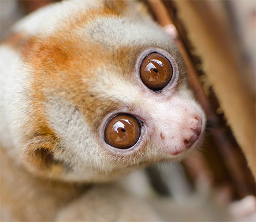
<path fill-rule="evenodd" d="M 164 56 L 152 53 L 140 66 L 140 78 L 148 88 L 161 90 L 172 79 L 172 66 Z"/>

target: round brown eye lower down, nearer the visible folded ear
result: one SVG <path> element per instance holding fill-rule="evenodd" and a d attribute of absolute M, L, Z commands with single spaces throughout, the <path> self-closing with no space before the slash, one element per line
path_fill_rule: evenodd
<path fill-rule="evenodd" d="M 128 149 L 140 137 L 140 124 L 131 115 L 119 114 L 109 121 L 104 136 L 106 143 L 119 149 Z"/>

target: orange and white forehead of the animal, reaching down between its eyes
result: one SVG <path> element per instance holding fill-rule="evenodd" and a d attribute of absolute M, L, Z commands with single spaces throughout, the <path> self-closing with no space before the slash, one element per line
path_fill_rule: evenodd
<path fill-rule="evenodd" d="M 163 48 L 182 63 L 173 42 L 154 22 L 103 6 L 72 16 L 72 22 L 57 19 L 58 28 L 30 37 L 22 52 L 33 73 L 30 91 L 40 122 L 47 122 L 41 121 L 46 118 L 44 103 L 64 98 L 66 107 L 82 113 L 96 131 L 106 113 L 140 97 L 133 79 L 136 60 L 146 48 Z"/>

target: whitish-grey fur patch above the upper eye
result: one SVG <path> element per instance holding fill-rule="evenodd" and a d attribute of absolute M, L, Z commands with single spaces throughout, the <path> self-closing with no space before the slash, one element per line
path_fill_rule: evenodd
<path fill-rule="evenodd" d="M 99 17 L 79 28 L 78 33 L 87 33 L 92 41 L 114 48 L 131 46 L 131 42 L 133 45 L 147 42 L 150 46 L 166 47 L 172 41 L 152 20 L 136 20 L 134 17 Z"/>

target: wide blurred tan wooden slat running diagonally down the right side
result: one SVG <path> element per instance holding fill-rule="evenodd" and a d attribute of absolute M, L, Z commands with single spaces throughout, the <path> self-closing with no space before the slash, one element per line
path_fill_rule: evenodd
<path fill-rule="evenodd" d="M 243 79 L 231 27 L 220 19 L 220 1 L 174 1 L 195 52 L 200 56 L 234 136 L 256 176 L 255 101 Z"/>

